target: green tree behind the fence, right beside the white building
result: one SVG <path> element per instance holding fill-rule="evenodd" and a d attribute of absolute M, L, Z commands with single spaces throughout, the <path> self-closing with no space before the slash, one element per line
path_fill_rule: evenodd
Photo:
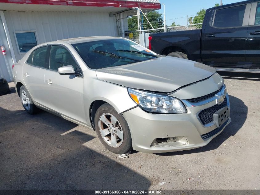
<path fill-rule="evenodd" d="M 142 17 L 142 16 L 141 16 Z M 146 17 L 148 18 L 149 22 L 152 24 L 154 28 L 161 28 L 164 26 L 162 14 L 158 11 L 150 11 L 147 12 Z M 143 29 L 152 29 L 149 22 L 146 20 L 146 18 L 143 16 Z M 137 16 L 133 16 L 131 18 L 128 18 L 128 30 L 135 31 L 138 30 L 138 21 Z"/>

